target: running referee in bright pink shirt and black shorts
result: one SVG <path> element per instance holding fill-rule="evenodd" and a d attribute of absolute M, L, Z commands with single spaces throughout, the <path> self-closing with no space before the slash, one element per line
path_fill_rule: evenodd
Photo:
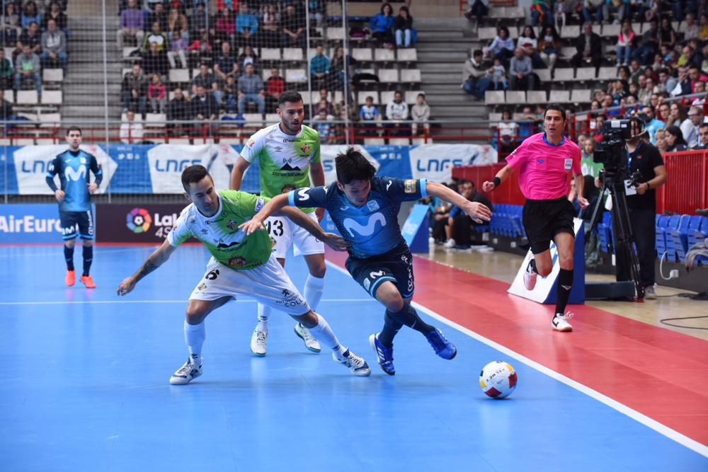
<path fill-rule="evenodd" d="M 546 132 L 525 139 L 507 158 L 507 165 L 496 174 L 492 182 L 485 182 L 482 190 L 491 192 L 515 170 L 519 171 L 519 185 L 526 197 L 523 224 L 531 243 L 533 258 L 526 267 L 524 284 L 532 290 L 537 275 L 551 273 L 553 261 L 550 245 L 555 241 L 561 271 L 558 276 L 558 301 L 552 324 L 554 330 L 572 331 L 568 320 L 573 313 L 565 313 L 573 286 L 573 204 L 568 200 L 569 173 L 573 173 L 578 195 L 583 195 L 581 151 L 577 144 L 565 139 L 566 112 L 559 105 L 548 105 L 544 113 Z M 578 196 L 581 207 L 588 207 L 588 200 Z"/>

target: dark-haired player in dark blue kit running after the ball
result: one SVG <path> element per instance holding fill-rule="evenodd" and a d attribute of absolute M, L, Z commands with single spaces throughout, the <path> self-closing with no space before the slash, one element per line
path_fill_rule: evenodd
<path fill-rule="evenodd" d="M 396 373 L 393 340 L 403 326 L 425 335 L 438 356 L 452 359 L 457 354 L 455 345 L 445 339 L 438 328 L 423 321 L 411 306 L 413 256 L 401 235 L 398 212 L 401 202 L 428 195 L 457 205 L 476 221 L 489 221 L 491 211 L 481 203 L 469 202 L 445 185 L 426 179 L 375 177 L 374 166 L 353 148 L 337 156 L 336 170 L 336 185 L 300 188 L 278 195 L 241 226 L 248 234 L 261 230 L 263 221 L 286 205 L 326 208 L 350 244 L 347 270 L 372 297 L 386 306 L 383 329 L 369 338 L 384 372 Z"/>

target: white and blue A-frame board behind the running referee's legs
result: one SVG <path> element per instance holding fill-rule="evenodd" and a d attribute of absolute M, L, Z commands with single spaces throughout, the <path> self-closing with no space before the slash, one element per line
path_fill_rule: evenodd
<path fill-rule="evenodd" d="M 576 246 L 573 255 L 573 288 L 571 289 L 570 304 L 585 303 L 585 225 L 583 220 L 576 218 L 573 220 L 573 229 L 575 230 Z M 514 282 L 509 287 L 508 292 L 525 299 L 537 301 L 542 304 L 555 304 L 558 297 L 558 289 L 556 280 L 558 273 L 561 270 L 558 258 L 558 249 L 556 243 L 551 242 L 551 258 L 553 260 L 553 270 L 548 277 L 538 277 L 536 286 L 533 290 L 527 290 L 524 287 L 524 272 L 526 267 L 533 257 L 529 249 L 524 258 L 519 271 L 514 277 Z"/>

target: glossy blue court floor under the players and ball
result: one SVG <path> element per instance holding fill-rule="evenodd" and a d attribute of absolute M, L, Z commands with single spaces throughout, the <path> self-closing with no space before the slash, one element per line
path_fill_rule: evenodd
<path fill-rule="evenodd" d="M 0 248 L 1 471 L 708 471 L 706 456 L 427 315 L 459 354 L 442 360 L 404 328 L 387 376 L 368 345 L 383 309 L 334 269 L 318 311 L 370 377 L 307 352 L 283 313 L 253 357 L 243 299 L 207 318 L 204 374 L 170 386 L 207 253 L 180 248 L 117 297 L 151 251 L 97 248 L 90 291 L 64 286 L 60 246 Z M 302 259 L 288 262 L 302 286 Z M 519 374 L 503 401 L 478 385 L 495 359 Z"/>

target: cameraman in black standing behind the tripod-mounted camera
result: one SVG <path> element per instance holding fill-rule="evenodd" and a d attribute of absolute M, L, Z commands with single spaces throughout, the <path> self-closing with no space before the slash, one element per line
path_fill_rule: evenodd
<path fill-rule="evenodd" d="M 654 291 L 654 260 L 656 259 L 656 189 L 666 183 L 666 166 L 656 147 L 642 139 L 646 133 L 644 123 L 638 117 L 630 118 L 632 137 L 625 141 L 627 149 L 627 171 L 641 175 L 635 186 L 627 186 L 627 207 L 632 234 L 636 243 L 639 269 L 644 287 L 644 298 L 656 299 Z M 595 182 L 598 184 L 598 181 Z M 612 214 L 616 221 L 615 212 Z M 616 226 L 615 226 L 616 227 Z M 625 260 L 622 251 L 615 251 L 617 261 L 617 280 L 631 280 L 629 260 Z"/>

